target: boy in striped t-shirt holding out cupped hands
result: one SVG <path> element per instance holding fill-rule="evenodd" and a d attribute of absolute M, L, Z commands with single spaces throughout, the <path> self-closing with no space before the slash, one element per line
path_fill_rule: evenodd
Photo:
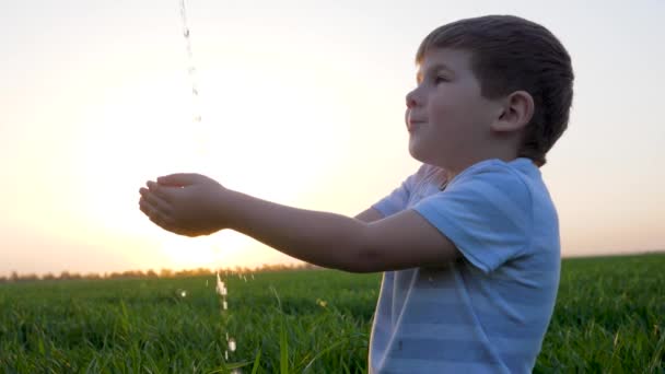
<path fill-rule="evenodd" d="M 371 372 L 530 372 L 560 265 L 538 167 L 568 126 L 570 57 L 540 25 L 483 16 L 434 30 L 416 60 L 406 124 L 423 165 L 354 219 L 196 174 L 148 182 L 140 209 L 178 234 L 232 229 L 319 266 L 385 271 Z"/>

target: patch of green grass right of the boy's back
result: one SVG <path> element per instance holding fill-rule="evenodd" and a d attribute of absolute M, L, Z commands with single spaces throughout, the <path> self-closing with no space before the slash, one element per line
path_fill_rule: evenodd
<path fill-rule="evenodd" d="M 665 373 L 665 255 L 563 261 L 535 372 Z"/>

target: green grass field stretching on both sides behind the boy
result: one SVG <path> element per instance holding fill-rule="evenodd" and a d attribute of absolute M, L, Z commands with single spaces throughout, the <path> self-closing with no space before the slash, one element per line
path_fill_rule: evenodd
<path fill-rule="evenodd" d="M 380 274 L 246 279 L 2 283 L 0 373 L 366 371 Z M 665 255 L 565 259 L 535 372 L 665 373 L 664 330 Z"/>

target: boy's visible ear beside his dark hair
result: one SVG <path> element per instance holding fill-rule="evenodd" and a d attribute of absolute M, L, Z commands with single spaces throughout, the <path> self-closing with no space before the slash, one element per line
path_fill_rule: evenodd
<path fill-rule="evenodd" d="M 492 122 L 491 129 L 497 132 L 518 131 L 534 116 L 534 97 L 526 91 L 515 91 L 502 100 L 501 112 Z"/>

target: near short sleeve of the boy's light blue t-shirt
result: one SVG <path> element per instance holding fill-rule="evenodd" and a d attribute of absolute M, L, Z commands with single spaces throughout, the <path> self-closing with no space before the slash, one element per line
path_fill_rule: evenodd
<path fill-rule="evenodd" d="M 532 207 L 530 191 L 514 171 L 489 165 L 463 172 L 413 210 L 489 273 L 530 244 Z"/>

